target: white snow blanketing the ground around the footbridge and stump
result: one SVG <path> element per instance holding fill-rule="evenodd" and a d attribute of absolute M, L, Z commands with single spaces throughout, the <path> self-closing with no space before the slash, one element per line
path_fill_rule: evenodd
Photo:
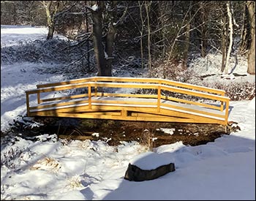
<path fill-rule="evenodd" d="M 1 45 L 43 38 L 42 28 L 28 28 L 34 34 L 1 26 Z M 38 74 L 34 68 L 40 65 L 48 64 L 1 64 L 1 131 L 26 113 L 26 90 L 64 80 Z M 48 134 L 37 140 L 1 137 L 1 200 L 255 200 L 255 98 L 230 102 L 230 108 L 229 121 L 241 130 L 206 145 L 177 142 L 148 151 L 137 142 L 110 146 Z M 129 162 L 146 170 L 174 162 L 176 171 L 151 181 L 127 181 Z"/>

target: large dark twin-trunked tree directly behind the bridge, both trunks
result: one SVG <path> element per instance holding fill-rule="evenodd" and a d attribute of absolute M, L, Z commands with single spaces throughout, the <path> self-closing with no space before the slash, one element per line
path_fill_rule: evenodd
<path fill-rule="evenodd" d="M 116 18 L 117 1 L 96 1 L 94 5 L 87 8 L 91 11 L 93 21 L 92 35 L 98 75 L 111 76 L 116 27 L 124 19 L 127 8 L 118 20 Z M 104 16 L 104 19 L 102 16 Z M 104 35 L 102 34 L 103 32 L 105 32 Z M 103 38 L 105 38 L 105 41 L 103 41 Z M 105 45 L 103 45 L 104 42 Z"/>

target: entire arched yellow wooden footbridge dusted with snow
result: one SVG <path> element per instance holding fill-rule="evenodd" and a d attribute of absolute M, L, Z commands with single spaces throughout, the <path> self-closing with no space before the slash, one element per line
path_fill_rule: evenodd
<path fill-rule="evenodd" d="M 135 88 L 143 93 L 129 92 Z M 88 77 L 26 91 L 28 116 L 125 121 L 227 125 L 229 100 L 222 90 L 140 77 Z"/>

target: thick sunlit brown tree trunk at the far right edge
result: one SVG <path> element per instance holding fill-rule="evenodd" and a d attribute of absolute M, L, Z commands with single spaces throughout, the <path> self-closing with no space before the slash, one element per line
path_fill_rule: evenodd
<path fill-rule="evenodd" d="M 249 11 L 249 23 L 251 34 L 251 45 L 248 53 L 248 69 L 247 72 L 255 75 L 255 1 L 246 1 Z"/>

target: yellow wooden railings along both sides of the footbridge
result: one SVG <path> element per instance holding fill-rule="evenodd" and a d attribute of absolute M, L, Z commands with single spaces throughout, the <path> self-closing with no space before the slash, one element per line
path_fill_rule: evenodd
<path fill-rule="evenodd" d="M 56 91 L 67 91 L 78 88 L 83 88 L 83 90 L 80 90 L 80 93 L 75 95 L 64 95 L 47 99 L 41 98 L 43 93 L 54 93 Z M 151 94 L 113 93 L 111 91 L 105 92 L 102 91 L 104 88 L 138 88 L 143 90 L 149 90 L 151 91 Z M 29 96 L 31 94 L 37 94 L 38 105 L 34 107 L 31 107 L 29 103 Z M 174 96 L 174 94 L 178 94 L 179 96 Z M 227 124 L 228 107 L 230 100 L 228 97 L 225 96 L 225 91 L 223 90 L 208 88 L 204 86 L 196 86 L 189 83 L 180 83 L 172 80 L 143 77 L 87 77 L 58 83 L 39 84 L 37 85 L 36 89 L 26 91 L 27 113 L 29 115 L 30 110 L 42 109 L 46 107 L 72 105 L 76 102 L 80 102 L 81 99 L 84 98 L 86 98 L 84 102 L 88 103 L 89 109 L 91 109 L 91 105 L 93 103 L 111 102 L 111 100 L 100 101 L 97 99 L 93 99 L 93 97 L 98 96 L 157 99 L 156 103 L 134 100 L 131 102 L 134 105 L 154 105 L 154 107 L 157 108 L 157 112 L 160 112 L 161 107 L 170 106 L 167 105 L 165 102 L 162 102 L 163 99 L 188 105 L 206 107 L 212 110 L 219 110 L 221 112 L 224 110 L 225 105 L 225 115 L 223 116 L 223 118 L 225 118 L 225 124 Z M 192 99 L 184 99 L 184 96 L 192 97 Z M 208 102 L 195 101 L 195 98 L 199 100 L 208 100 Z M 69 100 L 69 102 L 60 102 L 61 100 Z M 217 104 L 213 102 L 217 102 Z M 118 103 L 127 104 L 129 103 L 129 99 L 124 99 L 123 101 L 118 100 Z M 200 113 L 200 111 L 198 112 Z M 217 115 L 217 117 L 220 116 L 222 117 L 222 115 Z"/>

